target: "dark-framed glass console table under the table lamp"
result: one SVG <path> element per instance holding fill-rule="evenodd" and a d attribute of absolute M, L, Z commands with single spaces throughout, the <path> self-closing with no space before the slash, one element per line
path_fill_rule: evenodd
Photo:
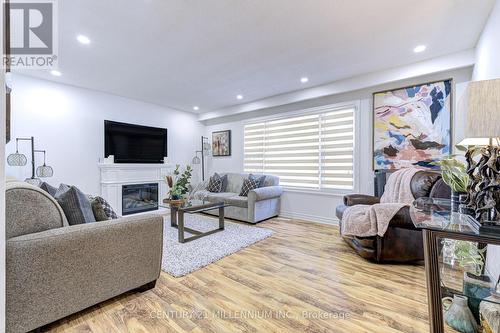
<path fill-rule="evenodd" d="M 419 198 L 410 207 L 410 216 L 415 227 L 423 231 L 431 332 L 444 332 L 442 305 L 444 297 L 466 296 L 469 307 L 471 304 L 479 306 L 480 302 L 490 302 L 500 306 L 500 298 L 491 295 L 498 276 L 491 276 L 483 268 L 481 276 L 486 281 L 483 281 L 480 296 L 471 294 L 464 283 L 465 276 L 470 276 L 467 267 L 454 263 L 447 253 L 448 247 L 456 244 L 454 241 L 474 242 L 477 249 L 485 247 L 486 244 L 500 245 L 500 235 L 480 233 L 472 217 L 452 213 L 450 200 L 446 199 Z"/>

